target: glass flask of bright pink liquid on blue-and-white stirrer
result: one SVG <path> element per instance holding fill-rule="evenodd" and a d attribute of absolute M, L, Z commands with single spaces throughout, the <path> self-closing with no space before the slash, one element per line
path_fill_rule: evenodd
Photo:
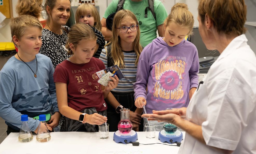
<path fill-rule="evenodd" d="M 130 109 L 122 108 L 120 109 L 120 113 L 121 113 L 121 120 L 117 125 L 118 130 L 123 134 L 130 133 L 132 130 L 132 122 L 129 120 Z"/>

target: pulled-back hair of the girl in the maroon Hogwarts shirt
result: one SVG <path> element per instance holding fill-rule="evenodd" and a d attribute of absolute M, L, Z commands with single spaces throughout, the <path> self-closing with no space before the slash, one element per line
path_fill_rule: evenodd
<path fill-rule="evenodd" d="M 97 36 L 93 32 L 92 28 L 84 23 L 76 23 L 72 25 L 68 34 L 68 40 L 66 48 L 68 49 L 68 55 L 73 55 L 74 52 L 70 49 L 69 44 L 72 43 L 74 48 L 80 43 L 80 40 L 97 40 Z"/>

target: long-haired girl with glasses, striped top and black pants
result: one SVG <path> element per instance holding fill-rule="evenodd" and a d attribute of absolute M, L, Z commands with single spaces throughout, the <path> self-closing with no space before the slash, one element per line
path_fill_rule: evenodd
<path fill-rule="evenodd" d="M 136 16 L 129 10 L 120 10 L 113 19 L 112 39 L 102 50 L 100 59 L 105 67 L 118 65 L 123 79 L 115 89 L 111 90 L 106 101 L 111 102 L 107 108 L 107 123 L 109 131 L 117 131 L 117 124 L 120 121 L 120 109 L 130 109 L 130 120 L 133 129 L 139 131 L 142 110 L 134 105 L 133 84 L 136 82 L 137 65 L 142 46 L 140 45 L 140 30 Z M 108 103 L 110 104 L 110 103 Z"/>

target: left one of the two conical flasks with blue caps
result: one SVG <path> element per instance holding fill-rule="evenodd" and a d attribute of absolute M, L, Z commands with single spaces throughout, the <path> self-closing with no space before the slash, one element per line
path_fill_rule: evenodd
<path fill-rule="evenodd" d="M 19 131 L 19 141 L 29 142 L 33 140 L 32 132 L 28 125 L 28 115 L 21 115 L 21 130 Z"/>

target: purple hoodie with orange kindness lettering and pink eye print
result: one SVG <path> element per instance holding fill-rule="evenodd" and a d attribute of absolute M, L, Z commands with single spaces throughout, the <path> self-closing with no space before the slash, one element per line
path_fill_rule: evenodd
<path fill-rule="evenodd" d="M 146 112 L 187 107 L 188 92 L 198 87 L 197 48 L 189 41 L 170 47 L 158 37 L 140 54 L 134 97 L 147 100 Z M 146 87 L 148 92 L 146 93 Z"/>

